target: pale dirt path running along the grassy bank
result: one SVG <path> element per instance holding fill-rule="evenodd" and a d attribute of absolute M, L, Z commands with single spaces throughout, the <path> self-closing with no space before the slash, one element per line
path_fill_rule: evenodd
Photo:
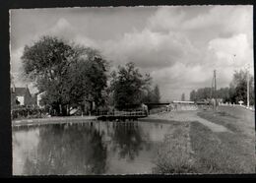
<path fill-rule="evenodd" d="M 223 126 L 216 123 L 212 123 L 206 119 L 203 119 L 197 115 L 198 111 L 172 111 L 164 112 L 160 114 L 153 114 L 150 117 L 154 119 L 165 119 L 173 121 L 191 122 L 198 121 L 201 124 L 207 126 L 213 132 L 227 132 L 228 130 Z"/>

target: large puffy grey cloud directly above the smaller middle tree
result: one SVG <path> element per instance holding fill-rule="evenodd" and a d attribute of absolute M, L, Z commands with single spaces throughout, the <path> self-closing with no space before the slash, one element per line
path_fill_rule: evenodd
<path fill-rule="evenodd" d="M 138 67 L 156 69 L 186 62 L 187 55 L 197 54 L 182 34 L 149 29 L 125 33 L 121 39 L 107 41 L 102 50 L 110 60 L 118 63 L 133 61 Z"/>

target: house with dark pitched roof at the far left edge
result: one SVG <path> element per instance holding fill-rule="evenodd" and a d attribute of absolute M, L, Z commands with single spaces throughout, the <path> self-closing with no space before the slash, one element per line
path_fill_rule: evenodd
<path fill-rule="evenodd" d="M 11 87 L 11 106 L 32 106 L 35 105 L 35 96 L 32 96 L 28 87 Z"/>

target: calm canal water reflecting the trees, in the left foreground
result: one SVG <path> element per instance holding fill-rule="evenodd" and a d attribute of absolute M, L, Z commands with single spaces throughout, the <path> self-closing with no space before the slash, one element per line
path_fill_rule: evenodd
<path fill-rule="evenodd" d="M 13 127 L 14 175 L 152 173 L 168 124 L 85 122 Z"/>

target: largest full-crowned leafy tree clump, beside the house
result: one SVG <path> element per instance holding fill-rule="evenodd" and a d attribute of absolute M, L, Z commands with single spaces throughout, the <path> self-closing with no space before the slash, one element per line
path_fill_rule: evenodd
<path fill-rule="evenodd" d="M 102 102 L 107 64 L 96 50 L 42 36 L 32 46 L 25 46 L 22 60 L 25 74 L 38 91 L 45 91 L 43 103 L 57 114 L 67 115 L 71 105 L 85 100 L 97 105 Z"/>

